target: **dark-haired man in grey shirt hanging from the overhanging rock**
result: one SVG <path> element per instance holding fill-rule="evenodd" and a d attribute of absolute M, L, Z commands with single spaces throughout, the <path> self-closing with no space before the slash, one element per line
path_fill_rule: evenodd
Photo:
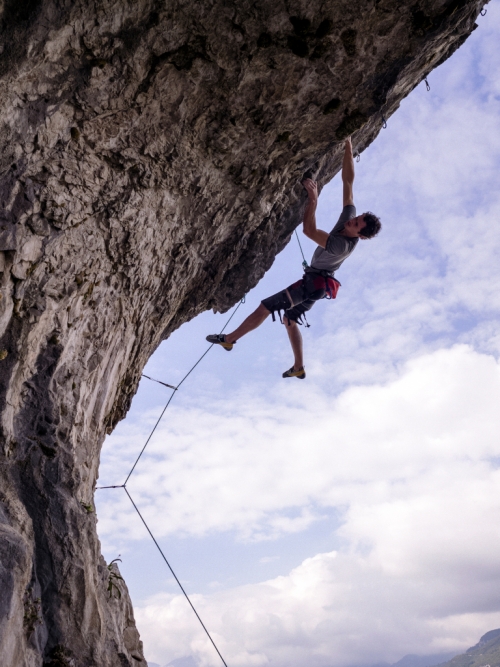
<path fill-rule="evenodd" d="M 340 283 L 334 278 L 335 271 L 353 252 L 359 239 L 371 239 L 381 229 L 380 220 L 373 213 L 367 212 L 356 216 L 352 191 L 354 160 L 350 138 L 345 142 L 342 182 L 344 208 L 337 224 L 328 234 L 316 228 L 318 187 L 310 178 L 303 181 L 308 195 L 303 231 L 306 236 L 316 241 L 318 247 L 314 251 L 311 266 L 306 268 L 301 280 L 264 299 L 257 310 L 232 333 L 207 336 L 209 343 L 221 345 L 228 351 L 232 350 L 237 340 L 259 327 L 269 315 L 272 314 L 274 320 L 274 314 L 278 312 L 281 319 L 281 311 L 284 311 L 283 324 L 286 325 L 292 346 L 294 364 L 283 373 L 283 377 L 296 377 L 301 380 L 306 377 L 302 335 L 297 325 L 301 323 L 303 317 L 305 318 L 306 311 L 310 310 L 316 301 L 323 298 L 334 299 L 337 296 Z"/>

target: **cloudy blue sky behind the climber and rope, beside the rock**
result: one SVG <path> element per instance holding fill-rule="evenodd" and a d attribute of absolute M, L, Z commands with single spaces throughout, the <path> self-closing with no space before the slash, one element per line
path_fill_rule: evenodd
<path fill-rule="evenodd" d="M 358 212 L 383 229 L 311 310 L 306 380 L 282 379 L 293 359 L 271 318 L 213 348 L 127 484 L 229 667 L 393 663 L 500 627 L 498 0 L 478 24 L 356 163 Z M 337 177 L 318 227 L 341 204 Z M 292 238 L 233 322 L 301 260 Z M 183 325 L 144 372 L 177 384 L 229 315 Z M 99 485 L 123 483 L 169 396 L 141 382 Z M 96 509 L 147 660 L 222 664 L 123 490 Z"/>

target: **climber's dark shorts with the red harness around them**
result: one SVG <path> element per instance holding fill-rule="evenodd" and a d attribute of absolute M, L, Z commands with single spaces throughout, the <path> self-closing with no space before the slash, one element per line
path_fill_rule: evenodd
<path fill-rule="evenodd" d="M 292 301 L 288 298 L 286 290 L 282 290 L 273 296 L 267 297 L 261 301 L 262 305 L 272 314 L 277 312 L 281 320 L 281 311 L 285 317 L 297 324 L 302 324 L 302 318 L 305 319 L 305 313 L 314 306 L 320 299 L 335 299 L 340 283 L 335 278 L 327 274 L 307 272 L 302 278 L 288 287 L 288 293 Z"/>

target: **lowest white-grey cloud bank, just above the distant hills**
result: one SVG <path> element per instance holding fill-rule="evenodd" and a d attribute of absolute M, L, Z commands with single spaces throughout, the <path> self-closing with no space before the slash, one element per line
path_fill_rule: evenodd
<path fill-rule="evenodd" d="M 332 552 L 307 559 L 286 577 L 193 601 L 228 664 L 335 667 L 475 643 L 499 624 L 500 613 L 484 608 L 476 581 L 465 583 L 454 600 L 465 611 L 450 613 L 442 602 L 449 600 L 446 576 L 423 585 L 418 576 L 389 574 L 363 556 Z M 155 596 L 136 608 L 136 617 L 153 659 L 189 651 L 202 665 L 218 664 L 180 596 Z"/>

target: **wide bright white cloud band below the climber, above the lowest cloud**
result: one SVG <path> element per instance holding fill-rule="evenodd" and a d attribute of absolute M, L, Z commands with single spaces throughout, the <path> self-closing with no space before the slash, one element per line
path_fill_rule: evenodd
<path fill-rule="evenodd" d="M 172 408 L 128 484 L 157 536 L 303 530 L 321 507 L 352 508 L 360 494 L 393 503 L 418 496 L 420 484 L 439 496 L 441 485 L 454 489 L 476 471 L 483 480 L 485 461 L 500 455 L 498 365 L 466 346 L 414 359 L 397 380 L 336 399 L 314 387 L 282 391 L 275 401 L 247 392 L 222 405 Z M 118 438 L 120 456 L 130 447 L 128 436 Z M 116 460 L 107 466 L 117 474 Z M 126 496 L 110 497 L 101 534 L 142 536 L 130 510 Z"/>

